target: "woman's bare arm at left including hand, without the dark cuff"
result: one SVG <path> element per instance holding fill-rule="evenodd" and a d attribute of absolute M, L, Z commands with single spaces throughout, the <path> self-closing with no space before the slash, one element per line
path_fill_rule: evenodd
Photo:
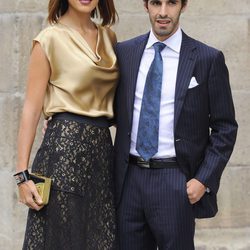
<path fill-rule="evenodd" d="M 40 119 L 45 92 L 50 77 L 50 64 L 47 57 L 37 42 L 31 53 L 26 97 L 21 117 L 18 134 L 18 157 L 16 171 L 24 171 L 28 168 L 31 148 L 34 142 L 37 125 Z M 20 201 L 30 208 L 39 210 L 41 207 L 34 203 L 41 203 L 35 185 L 27 181 L 19 185 Z"/>

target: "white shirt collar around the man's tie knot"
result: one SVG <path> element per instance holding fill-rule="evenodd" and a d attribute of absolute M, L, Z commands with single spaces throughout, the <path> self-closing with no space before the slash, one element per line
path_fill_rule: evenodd
<path fill-rule="evenodd" d="M 146 49 L 151 48 L 153 46 L 153 44 L 156 42 L 162 42 L 162 43 L 166 44 L 166 46 L 168 48 L 172 49 L 173 51 L 175 51 L 177 53 L 180 53 L 181 41 L 182 41 L 182 32 L 181 32 L 180 27 L 177 29 L 177 31 L 172 36 L 170 36 L 169 38 L 167 38 L 164 41 L 159 41 L 151 29 L 150 34 L 149 34 L 149 38 L 148 38 L 148 42 L 146 45 Z"/>

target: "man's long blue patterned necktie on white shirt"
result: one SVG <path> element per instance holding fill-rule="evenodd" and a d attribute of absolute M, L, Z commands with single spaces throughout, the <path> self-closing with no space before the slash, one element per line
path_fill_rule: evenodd
<path fill-rule="evenodd" d="M 155 49 L 155 56 L 146 78 L 136 141 L 136 150 L 146 161 L 158 152 L 159 114 L 163 72 L 161 51 L 166 45 L 157 42 L 153 46 Z"/>

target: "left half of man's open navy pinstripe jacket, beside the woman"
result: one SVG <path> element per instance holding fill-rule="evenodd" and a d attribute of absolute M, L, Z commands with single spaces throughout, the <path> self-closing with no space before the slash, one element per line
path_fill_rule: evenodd
<path fill-rule="evenodd" d="M 148 37 L 149 33 L 128 41 L 130 46 L 121 49 L 115 48 L 120 69 L 120 81 L 116 89 L 114 113 L 117 132 L 121 131 L 121 133 L 116 133 L 114 147 L 117 170 L 115 171 L 116 203 L 120 201 L 127 171 L 136 80 Z M 133 49 L 131 50 L 131 48 Z"/>

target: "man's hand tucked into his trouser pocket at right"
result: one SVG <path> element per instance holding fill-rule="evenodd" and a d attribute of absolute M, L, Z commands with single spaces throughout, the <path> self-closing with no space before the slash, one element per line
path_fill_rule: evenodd
<path fill-rule="evenodd" d="M 187 182 L 187 194 L 191 204 L 196 203 L 206 192 L 206 187 L 196 179 Z"/>

